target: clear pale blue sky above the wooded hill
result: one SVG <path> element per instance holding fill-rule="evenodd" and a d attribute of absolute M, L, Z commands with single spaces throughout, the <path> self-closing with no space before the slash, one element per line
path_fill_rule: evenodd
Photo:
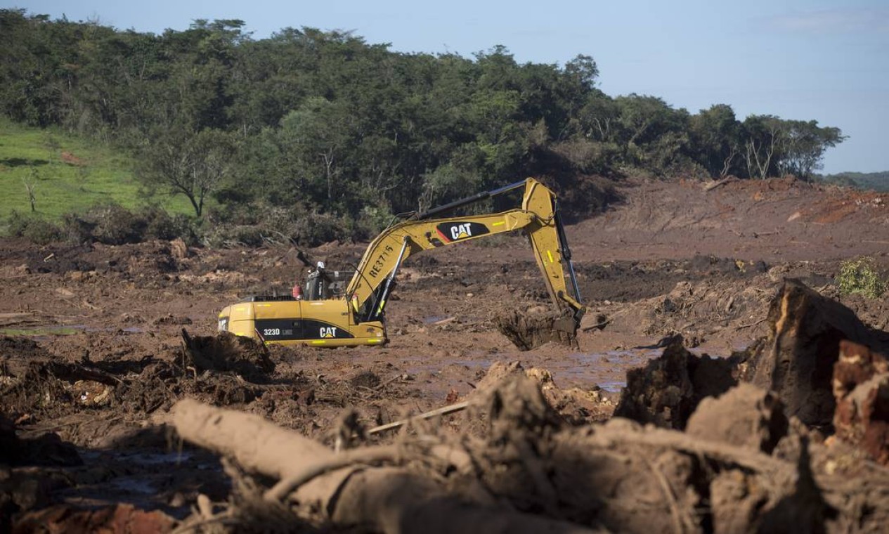
<path fill-rule="evenodd" d="M 240 19 L 255 38 L 281 28 L 352 30 L 398 52 L 503 44 L 519 62 L 592 56 L 612 96 L 661 97 L 695 113 L 817 120 L 849 136 L 825 172 L 889 171 L 886 0 L 0 0 L 52 19 L 161 33 L 196 19 Z"/>

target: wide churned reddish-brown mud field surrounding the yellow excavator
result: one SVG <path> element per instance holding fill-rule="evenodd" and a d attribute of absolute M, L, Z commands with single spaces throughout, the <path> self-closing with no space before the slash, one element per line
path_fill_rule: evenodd
<path fill-rule="evenodd" d="M 889 271 L 889 196 L 792 179 L 711 188 L 635 181 L 621 195 L 605 214 L 567 227 L 589 306 L 577 345 L 529 351 L 497 328 L 504 313 L 533 313 L 548 302 L 520 235 L 408 259 L 388 305 L 388 345 L 337 349 L 262 347 L 216 334 L 221 307 L 290 292 L 304 267 L 286 244 L 0 242 L 0 531 L 428 531 L 428 522 L 417 523 L 427 517 L 420 512 L 474 517 L 469 530 L 486 531 L 885 528 L 889 430 L 835 415 L 845 398 L 829 386 L 837 350 L 813 371 L 828 375 L 821 381 L 829 413 L 813 408 L 824 392 L 813 388 L 796 402 L 798 384 L 780 381 L 766 360 L 787 356 L 796 365 L 797 353 L 778 348 L 794 310 L 792 334 L 805 333 L 803 341 L 837 347 L 850 339 L 860 344 L 841 346 L 850 361 L 865 347 L 885 354 L 885 299 L 841 297 L 835 276 L 841 260 L 858 255 Z M 348 269 L 364 246 L 328 243 L 308 253 Z M 797 309 L 795 299 L 807 304 Z M 835 323 L 813 319 L 804 306 L 841 324 L 816 328 Z M 829 335 L 819 338 L 822 331 Z M 867 379 L 885 377 L 885 360 L 867 354 Z M 752 385 L 726 393 L 741 382 Z M 889 387 L 876 391 L 869 402 L 882 398 L 886 406 L 867 411 L 856 400 L 853 412 L 889 413 Z M 718 395 L 724 411 L 714 415 Z M 469 408 L 453 415 L 376 431 L 463 403 Z M 744 411 L 750 406 L 755 417 Z M 218 408 L 312 440 L 293 450 L 320 442 L 320 456 L 401 447 L 396 459 L 356 463 L 374 467 L 361 472 L 365 478 L 409 473 L 410 483 L 398 479 L 407 488 L 415 478 L 423 488 L 435 481 L 429 491 L 437 507 L 392 512 L 414 523 L 368 519 L 372 512 L 347 506 L 346 486 L 336 506 L 323 492 L 292 497 L 312 484 L 284 505 L 268 505 L 262 492 L 286 473 L 237 449 L 265 427 L 208 442 L 202 417 L 220 421 L 211 434 L 227 435 L 232 412 L 201 411 Z M 723 426 L 748 416 L 757 421 L 753 434 L 765 437 L 744 449 L 751 432 Z M 709 434 L 725 439 L 710 442 Z M 419 445 L 430 441 L 463 443 L 473 467 L 431 462 L 434 447 Z M 276 454 L 269 449 L 268 458 Z M 584 471 L 591 466 L 595 475 Z M 404 473 L 393 474 L 398 469 Z M 349 480 L 379 494 L 370 479 Z M 313 498 L 321 505 L 306 505 Z M 452 498 L 484 512 L 456 514 Z M 494 512 L 505 514 L 496 529 L 488 523 Z M 443 531 L 467 529 L 444 524 Z"/>

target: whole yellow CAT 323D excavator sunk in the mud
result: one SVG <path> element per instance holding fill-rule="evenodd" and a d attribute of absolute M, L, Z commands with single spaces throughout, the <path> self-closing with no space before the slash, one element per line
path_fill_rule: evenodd
<path fill-rule="evenodd" d="M 445 211 L 525 187 L 521 207 L 469 217 L 436 218 Z M 335 275 L 322 263 L 309 274 L 300 296 L 248 297 L 225 307 L 219 330 L 265 343 L 342 347 L 387 342 L 385 309 L 398 267 L 412 254 L 472 239 L 523 230 L 561 318 L 554 328 L 573 339 L 585 307 L 558 212 L 556 195 L 529 178 L 421 213 L 383 230 L 364 251 L 345 291 L 332 295 Z M 302 258 L 300 258 L 302 259 Z M 304 259 L 305 261 L 305 259 Z M 571 281 L 569 293 L 565 267 Z"/>

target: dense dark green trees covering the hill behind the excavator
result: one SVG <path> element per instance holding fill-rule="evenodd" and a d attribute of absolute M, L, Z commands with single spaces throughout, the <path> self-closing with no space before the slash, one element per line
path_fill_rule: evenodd
<path fill-rule="evenodd" d="M 368 232 L 527 175 L 805 178 L 844 139 L 815 121 L 741 121 L 724 104 L 693 115 L 613 98 L 585 55 L 522 64 L 501 46 L 464 58 L 243 28 L 196 20 L 154 35 L 0 10 L 0 109 L 132 150 L 140 179 L 187 195 L 197 216 L 212 197 L 213 217 L 332 216 Z"/>

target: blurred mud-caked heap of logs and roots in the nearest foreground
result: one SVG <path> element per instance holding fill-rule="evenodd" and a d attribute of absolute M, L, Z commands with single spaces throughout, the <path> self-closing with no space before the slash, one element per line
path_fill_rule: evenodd
<path fill-rule="evenodd" d="M 257 524 L 260 510 L 275 524 L 289 514 L 293 528 L 424 533 L 879 530 L 889 519 L 889 497 L 873 490 L 887 487 L 889 471 L 864 470 L 849 488 L 813 461 L 830 450 L 751 385 L 701 402 L 687 433 L 624 418 L 566 425 L 524 372 L 480 388 L 475 406 L 486 414 L 483 435 L 402 434 L 339 453 L 194 401 L 177 403 L 173 423 L 242 469 L 231 472 L 237 495 L 210 516 L 235 528 Z M 739 413 L 734 425 L 709 428 Z"/>

